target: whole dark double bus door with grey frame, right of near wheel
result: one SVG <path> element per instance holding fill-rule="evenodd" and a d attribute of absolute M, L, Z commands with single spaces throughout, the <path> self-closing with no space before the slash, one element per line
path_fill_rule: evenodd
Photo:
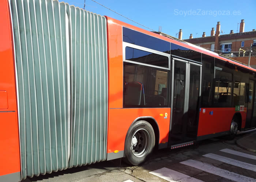
<path fill-rule="evenodd" d="M 173 58 L 169 145 L 193 142 L 197 137 L 202 64 Z"/>

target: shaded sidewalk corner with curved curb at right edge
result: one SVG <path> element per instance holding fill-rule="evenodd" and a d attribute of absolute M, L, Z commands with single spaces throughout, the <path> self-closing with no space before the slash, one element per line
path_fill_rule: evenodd
<path fill-rule="evenodd" d="M 256 153 L 256 131 L 236 141 L 242 149 Z"/>

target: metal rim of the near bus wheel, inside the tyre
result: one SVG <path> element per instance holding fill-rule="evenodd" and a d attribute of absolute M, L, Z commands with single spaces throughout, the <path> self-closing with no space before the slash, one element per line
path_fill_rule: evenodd
<path fill-rule="evenodd" d="M 131 150 L 136 157 L 143 157 L 150 146 L 150 136 L 145 129 L 137 130 L 132 137 Z"/>

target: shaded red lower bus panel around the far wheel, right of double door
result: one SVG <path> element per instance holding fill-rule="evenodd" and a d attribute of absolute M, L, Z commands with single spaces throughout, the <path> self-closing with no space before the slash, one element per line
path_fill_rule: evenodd
<path fill-rule="evenodd" d="M 235 108 L 201 108 L 197 137 L 217 134 L 230 130 Z M 245 126 L 246 112 L 241 111 L 242 128 Z"/>

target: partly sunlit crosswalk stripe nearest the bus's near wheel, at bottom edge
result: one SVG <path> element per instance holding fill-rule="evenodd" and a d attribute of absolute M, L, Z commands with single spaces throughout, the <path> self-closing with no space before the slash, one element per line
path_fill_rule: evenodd
<path fill-rule="evenodd" d="M 152 171 L 152 172 L 150 172 L 150 174 L 153 174 L 155 176 L 158 176 L 158 177 L 165 179 L 166 181 L 170 181 L 170 182 L 176 182 L 176 181 L 179 181 L 179 182 L 203 182 L 199 179 L 192 178 L 188 175 L 168 169 L 166 167 Z"/>

